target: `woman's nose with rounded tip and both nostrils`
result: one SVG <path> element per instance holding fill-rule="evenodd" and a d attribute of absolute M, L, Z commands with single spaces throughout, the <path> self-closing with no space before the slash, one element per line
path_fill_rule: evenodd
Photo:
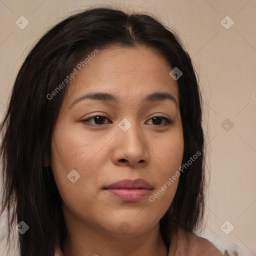
<path fill-rule="evenodd" d="M 121 166 L 143 167 L 149 162 L 149 148 L 141 129 L 132 124 L 128 130 L 117 128 L 112 161 Z"/>

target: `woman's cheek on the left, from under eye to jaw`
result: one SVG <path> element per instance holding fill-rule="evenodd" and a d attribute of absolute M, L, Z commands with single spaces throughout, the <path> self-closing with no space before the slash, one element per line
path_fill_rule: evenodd
<path fill-rule="evenodd" d="M 51 166 L 55 183 L 64 204 L 72 212 L 77 209 L 79 212 L 89 212 L 86 203 L 100 208 L 93 194 L 100 178 L 97 153 L 102 144 L 93 143 L 92 140 L 91 136 L 68 128 L 55 129 L 52 136 Z"/>

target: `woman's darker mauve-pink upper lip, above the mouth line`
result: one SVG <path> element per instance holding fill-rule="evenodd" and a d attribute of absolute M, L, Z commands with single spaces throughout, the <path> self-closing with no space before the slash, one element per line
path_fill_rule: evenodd
<path fill-rule="evenodd" d="M 151 184 L 149 184 L 147 181 L 145 181 L 142 178 L 138 179 L 123 179 L 119 180 L 117 182 L 114 182 L 106 187 L 106 189 L 114 189 L 114 188 L 126 188 L 126 189 L 138 189 L 138 188 L 143 188 L 143 189 L 152 189 Z"/>

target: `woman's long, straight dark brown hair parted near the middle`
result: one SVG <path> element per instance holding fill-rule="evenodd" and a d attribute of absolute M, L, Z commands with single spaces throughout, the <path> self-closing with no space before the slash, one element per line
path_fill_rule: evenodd
<path fill-rule="evenodd" d="M 3 134 L 3 199 L 0 214 L 8 212 L 8 237 L 20 221 L 29 231 L 19 234 L 21 256 L 52 256 L 66 237 L 61 198 L 51 168 L 51 135 L 66 90 L 51 93 L 93 49 L 110 44 L 145 45 L 158 50 L 170 67 L 182 76 L 177 80 L 184 152 L 182 164 L 197 151 L 201 154 L 180 174 L 177 191 L 160 231 L 166 246 L 170 232 L 180 227 L 199 230 L 204 206 L 204 138 L 201 127 L 201 96 L 191 59 L 175 33 L 151 14 L 93 7 L 65 18 L 46 32 L 25 58 L 14 82 Z M 171 70 L 171 69 L 170 69 Z"/>

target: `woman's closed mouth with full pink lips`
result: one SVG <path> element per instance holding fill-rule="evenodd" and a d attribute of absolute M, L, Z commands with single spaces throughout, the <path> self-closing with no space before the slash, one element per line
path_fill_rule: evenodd
<path fill-rule="evenodd" d="M 153 189 L 144 179 L 123 179 L 103 188 L 112 196 L 123 201 L 138 201 L 143 199 Z"/>

